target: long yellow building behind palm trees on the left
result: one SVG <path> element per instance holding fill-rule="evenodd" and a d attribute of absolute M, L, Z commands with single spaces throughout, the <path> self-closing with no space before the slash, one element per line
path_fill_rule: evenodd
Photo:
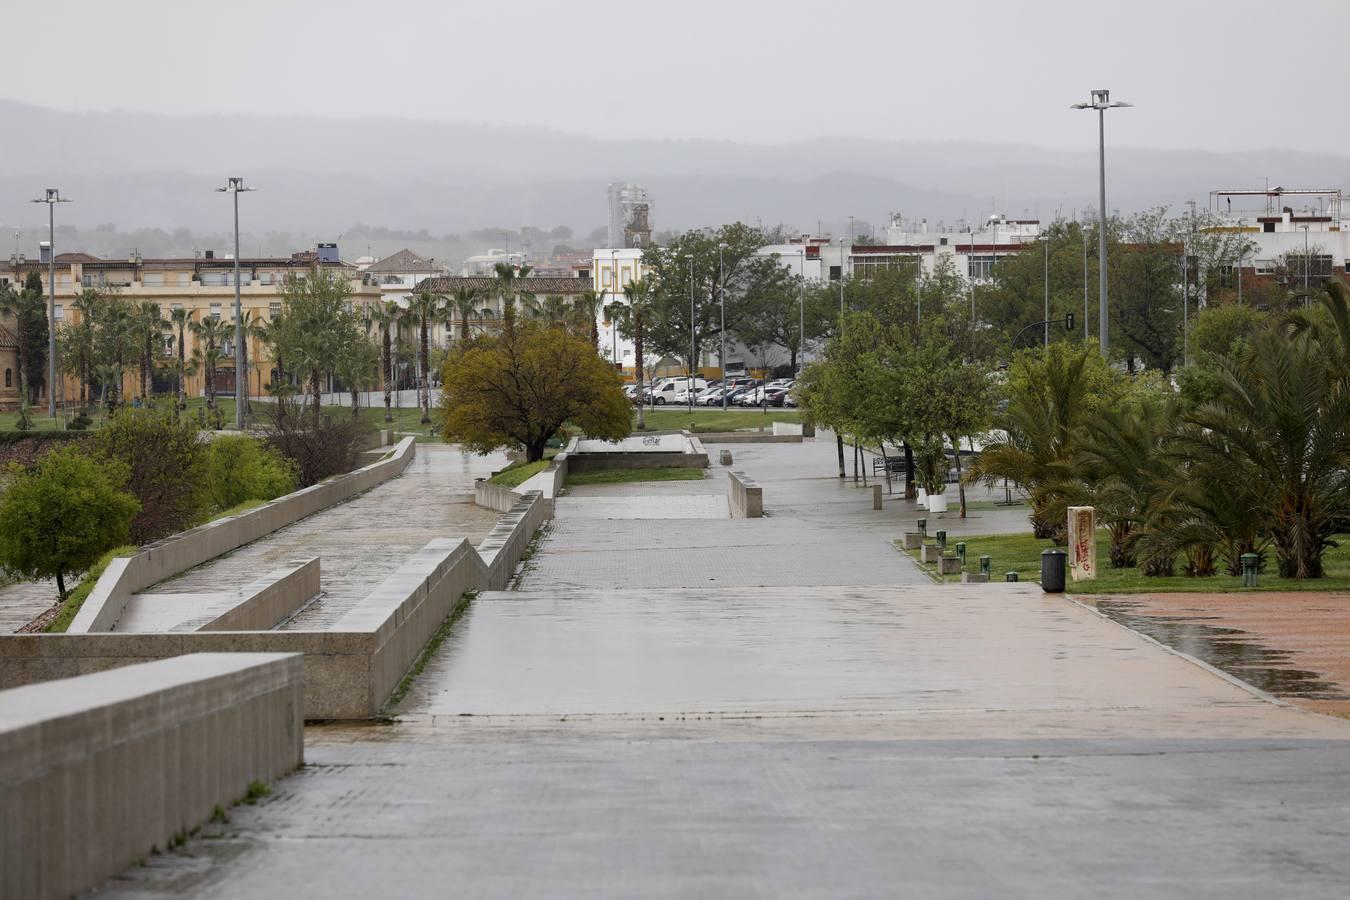
<path fill-rule="evenodd" d="M 246 320 L 269 322 L 281 312 L 281 285 L 290 273 L 302 274 L 313 266 L 335 269 L 344 273 L 351 282 L 351 301 L 356 306 L 374 305 L 381 298 L 379 286 L 371 283 L 354 266 L 338 259 L 336 247 L 321 244 L 317 250 L 292 254 L 282 258 L 252 258 L 239 260 L 239 296 Z M 23 286 L 28 273 L 38 271 L 43 290 L 47 290 L 47 266 L 38 260 L 9 259 L 0 263 L 0 283 L 8 281 L 15 289 Z M 235 262 L 216 256 L 211 251 L 196 258 L 143 259 L 139 255 L 127 259 L 100 259 L 89 254 L 58 254 L 57 264 L 57 322 L 78 322 L 80 313 L 74 300 L 85 289 L 105 291 L 132 305 L 144 301 L 158 304 L 161 314 L 167 320 L 174 309 L 192 310 L 193 321 L 215 317 L 234 324 L 235 305 Z M 0 322 L 0 370 L 16 370 L 16 347 L 14 347 L 14 322 Z M 197 339 L 189 329 L 185 335 L 185 355 L 192 358 Z M 169 363 L 178 356 L 177 329 L 163 335 L 162 360 Z M 235 391 L 234 332 L 225 347 L 221 347 L 221 360 L 216 372 L 216 391 L 232 395 Z M 267 347 L 256 337 L 247 345 L 250 397 L 266 394 L 271 379 L 271 358 Z M 11 376 L 15 387 L 0 387 L 0 407 L 12 407 L 18 402 L 18 372 Z M 124 397 L 128 399 L 140 393 L 139 372 L 132 362 L 126 371 Z M 174 390 L 174 376 L 161 371 L 155 378 L 157 393 Z M 205 378 L 201 372 L 186 379 L 189 397 L 205 393 Z M 74 401 L 80 395 L 80 385 L 73 378 L 65 378 L 58 390 L 62 397 Z M 45 401 L 43 401 L 45 402 Z"/>

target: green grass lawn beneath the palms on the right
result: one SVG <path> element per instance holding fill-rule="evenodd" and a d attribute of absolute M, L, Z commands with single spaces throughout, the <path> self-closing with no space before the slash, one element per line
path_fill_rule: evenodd
<path fill-rule="evenodd" d="M 929 534 L 932 534 L 932 529 Z M 953 549 L 956 540 L 965 541 L 965 572 L 980 571 L 980 557 L 990 556 L 994 568 L 992 580 L 1002 582 L 1004 572 L 1017 572 L 1023 582 L 1041 580 L 1041 551 L 1050 549 L 1054 544 L 1049 540 L 1031 537 L 1030 534 L 975 534 L 965 538 L 948 537 L 948 549 Z M 1296 582 L 1282 579 L 1274 573 L 1273 557 L 1262 572 L 1260 586 L 1243 588 L 1242 579 L 1230 575 L 1215 575 L 1212 578 L 1185 578 L 1173 575 L 1170 578 L 1148 578 L 1138 568 L 1111 568 L 1110 537 L 1106 530 L 1098 532 L 1098 576 L 1091 582 L 1068 582 L 1071 594 L 1162 594 L 1184 591 L 1216 591 L 1231 592 L 1243 590 L 1260 591 L 1350 591 L 1350 534 L 1339 536 L 1341 546 L 1332 546 L 1323 555 L 1323 565 L 1327 578 Z M 923 568 L 934 579 L 937 567 L 918 563 L 918 551 L 910 551 L 915 564 Z M 1177 563 L 1177 572 L 1181 563 Z M 960 582 L 959 575 L 941 576 L 944 582 Z"/>

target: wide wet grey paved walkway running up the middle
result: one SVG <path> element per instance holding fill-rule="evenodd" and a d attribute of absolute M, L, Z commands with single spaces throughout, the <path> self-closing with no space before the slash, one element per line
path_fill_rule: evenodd
<path fill-rule="evenodd" d="M 760 449 L 760 522 L 571 493 L 398 725 L 309 729 L 273 799 L 104 893 L 1343 893 L 1350 723 L 1033 586 L 917 582 L 833 447 Z"/>

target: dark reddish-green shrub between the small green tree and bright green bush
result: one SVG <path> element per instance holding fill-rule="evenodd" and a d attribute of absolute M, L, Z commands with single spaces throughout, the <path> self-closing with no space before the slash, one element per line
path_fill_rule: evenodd
<path fill-rule="evenodd" d="M 130 471 L 127 488 L 140 502 L 131 540 L 147 544 L 192 528 L 207 513 L 208 448 L 197 428 L 169 410 L 124 407 L 89 439 L 90 449 Z"/>

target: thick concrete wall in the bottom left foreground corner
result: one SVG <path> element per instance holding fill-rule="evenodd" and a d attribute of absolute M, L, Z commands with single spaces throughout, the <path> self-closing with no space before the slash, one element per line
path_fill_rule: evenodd
<path fill-rule="evenodd" d="M 181 656 L 0 692 L 0 897 L 69 897 L 304 761 L 294 654 Z"/>

